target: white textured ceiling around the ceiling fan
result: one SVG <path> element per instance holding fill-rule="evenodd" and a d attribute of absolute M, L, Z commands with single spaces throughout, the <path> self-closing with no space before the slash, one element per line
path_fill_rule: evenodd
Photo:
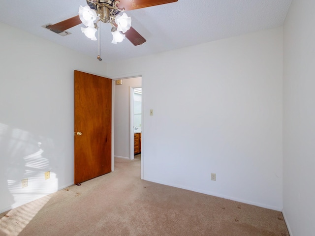
<path fill-rule="evenodd" d="M 109 24 L 101 25 L 103 61 L 118 61 L 213 40 L 282 26 L 292 0 L 178 0 L 127 11 L 132 27 L 146 40 L 134 46 L 125 39 L 112 44 Z M 1 0 L 0 21 L 94 57 L 98 41 L 85 37 L 80 27 L 60 36 L 42 28 L 78 15 L 86 0 Z M 3 37 L 4 32 L 1 32 Z"/>

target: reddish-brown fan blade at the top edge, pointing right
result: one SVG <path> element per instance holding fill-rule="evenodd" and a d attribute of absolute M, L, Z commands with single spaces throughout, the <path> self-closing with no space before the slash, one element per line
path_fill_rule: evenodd
<path fill-rule="evenodd" d="M 119 0 L 117 7 L 126 11 L 175 2 L 178 0 Z"/>

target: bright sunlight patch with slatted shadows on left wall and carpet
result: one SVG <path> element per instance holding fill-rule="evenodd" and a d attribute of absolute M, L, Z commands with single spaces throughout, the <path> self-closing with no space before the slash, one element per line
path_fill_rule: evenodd
<path fill-rule="evenodd" d="M 48 153 L 52 148 L 54 143 L 49 138 L 0 123 L 0 212 L 58 190 L 58 178 L 50 172 Z M 1 218 L 0 233 L 18 235 L 48 201 L 46 196 L 41 206 L 22 207 L 21 222 L 14 228 Z"/>

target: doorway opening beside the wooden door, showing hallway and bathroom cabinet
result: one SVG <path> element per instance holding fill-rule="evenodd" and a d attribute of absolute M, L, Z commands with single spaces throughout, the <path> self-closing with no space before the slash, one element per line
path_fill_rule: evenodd
<path fill-rule="evenodd" d="M 135 154 L 141 153 L 141 177 L 143 177 L 142 77 L 114 79 L 113 87 L 113 157 L 133 160 Z M 135 146 L 135 142 L 138 146 Z"/>

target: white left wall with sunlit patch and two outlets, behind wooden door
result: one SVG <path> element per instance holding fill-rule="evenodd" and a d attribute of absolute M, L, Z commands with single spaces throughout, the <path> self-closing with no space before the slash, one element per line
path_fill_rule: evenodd
<path fill-rule="evenodd" d="M 104 76 L 106 66 L 2 23 L 0 31 L 3 212 L 73 184 L 73 71 Z"/>

